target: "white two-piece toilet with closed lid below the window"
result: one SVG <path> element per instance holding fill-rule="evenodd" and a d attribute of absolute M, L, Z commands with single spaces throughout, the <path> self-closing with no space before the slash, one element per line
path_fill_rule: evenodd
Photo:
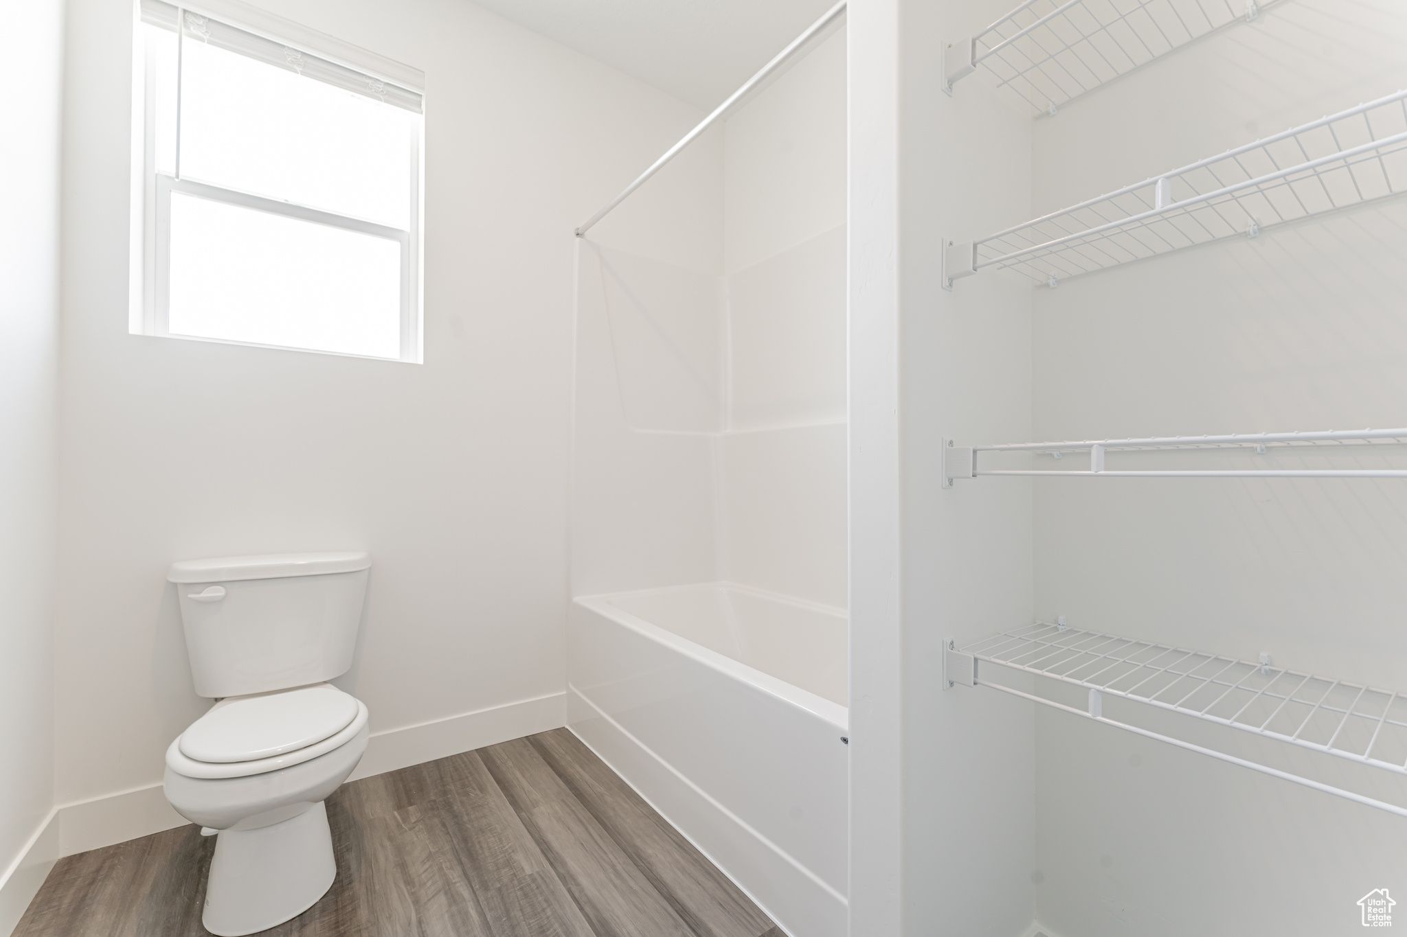
<path fill-rule="evenodd" d="M 196 693 L 218 700 L 166 750 L 166 799 L 218 832 L 203 923 L 253 934 L 317 903 L 336 861 L 322 801 L 366 752 L 366 705 L 328 684 L 348 671 L 366 553 L 173 563 Z"/>

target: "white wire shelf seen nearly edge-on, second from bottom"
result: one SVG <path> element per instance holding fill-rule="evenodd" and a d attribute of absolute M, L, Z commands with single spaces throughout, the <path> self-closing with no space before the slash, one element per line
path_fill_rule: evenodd
<path fill-rule="evenodd" d="M 1050 478 L 1407 478 L 1407 469 L 1370 468 L 1254 468 L 1213 469 L 1106 469 L 1109 451 L 1148 452 L 1178 450 L 1240 450 L 1256 455 L 1327 455 L 1334 452 L 1362 454 L 1356 447 L 1384 448 L 1407 445 L 1407 428 L 1400 430 L 1324 430 L 1316 433 L 1233 433 L 1227 435 L 1166 435 L 1128 440 L 1083 440 L 1079 443 L 1003 443 L 998 445 L 960 447 L 943 440 L 943 487 L 955 479 L 1029 475 Z M 1034 452 L 1064 459 L 1068 454 L 1088 454 L 1089 468 L 1003 469 L 983 468 L 982 452 Z"/>

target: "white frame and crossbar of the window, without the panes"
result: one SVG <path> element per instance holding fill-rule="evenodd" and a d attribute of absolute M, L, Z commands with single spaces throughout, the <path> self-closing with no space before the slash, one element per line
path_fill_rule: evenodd
<path fill-rule="evenodd" d="M 404 66 L 398 62 L 384 59 L 373 52 L 314 32 L 305 27 L 283 20 L 273 14 L 249 7 L 236 0 L 222 0 L 217 3 L 183 4 L 172 3 L 177 13 L 177 42 L 183 41 L 180 24 L 186 13 L 207 15 L 231 27 L 245 30 L 266 39 L 280 42 L 290 49 L 307 52 L 318 58 L 328 59 L 336 65 L 363 72 L 369 77 L 390 80 L 401 87 L 421 94 L 422 111 L 416 117 L 416 129 L 412 135 L 411 153 L 411 191 L 408 192 L 409 221 L 405 230 L 377 225 L 374 222 L 336 215 L 305 205 L 283 202 L 250 192 L 242 192 L 219 185 L 210 185 L 193 180 L 180 178 L 180 132 L 179 132 L 179 97 L 177 97 L 177 128 L 176 133 L 176 173 L 156 171 L 156 139 L 155 119 L 148 115 L 155 110 L 155 79 L 149 74 L 144 52 L 144 37 L 141 32 L 141 3 L 134 4 L 134 87 L 132 87 L 132 280 L 131 313 L 128 330 L 134 334 L 155 336 L 162 339 L 186 339 L 191 341 L 214 341 L 218 344 L 248 346 L 256 348 L 279 348 L 284 351 L 304 351 L 310 354 L 332 354 L 352 358 L 370 358 L 373 361 L 400 361 L 407 364 L 421 364 L 424 361 L 424 251 L 422 216 L 425 202 L 424 178 L 425 159 L 425 121 L 424 121 L 424 76 L 421 72 Z M 177 46 L 180 48 L 180 46 Z M 179 91 L 177 91 L 179 96 Z M 329 351 L 325 348 L 305 348 L 300 346 L 272 346 L 256 341 L 238 341 L 232 339 L 214 339 L 205 336 L 190 336 L 173 333 L 169 329 L 169 289 L 170 289 L 170 197 L 180 192 L 196 198 L 204 198 L 227 205 L 238 205 L 255 211 L 295 218 L 300 221 L 328 225 L 353 230 L 373 237 L 384 237 L 400 244 L 401 254 L 401 310 L 400 336 L 401 355 L 386 358 L 380 355 L 364 355 L 346 351 Z"/>

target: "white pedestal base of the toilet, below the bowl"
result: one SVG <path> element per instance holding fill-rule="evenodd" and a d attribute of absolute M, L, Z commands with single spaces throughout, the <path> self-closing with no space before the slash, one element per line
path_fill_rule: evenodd
<path fill-rule="evenodd" d="M 201 923 L 218 937 L 276 927 L 318 903 L 336 875 L 322 801 L 269 826 L 221 830 Z"/>

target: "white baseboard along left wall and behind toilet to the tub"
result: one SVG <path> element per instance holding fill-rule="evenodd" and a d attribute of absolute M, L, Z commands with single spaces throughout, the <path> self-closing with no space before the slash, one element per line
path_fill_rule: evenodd
<path fill-rule="evenodd" d="M 460 752 L 521 739 L 567 723 L 567 694 L 552 693 L 373 735 L 356 771 L 371 777 Z M 0 878 L 0 937 L 8 937 L 53 864 L 76 853 L 125 843 L 189 823 L 160 784 L 55 806 Z"/>

